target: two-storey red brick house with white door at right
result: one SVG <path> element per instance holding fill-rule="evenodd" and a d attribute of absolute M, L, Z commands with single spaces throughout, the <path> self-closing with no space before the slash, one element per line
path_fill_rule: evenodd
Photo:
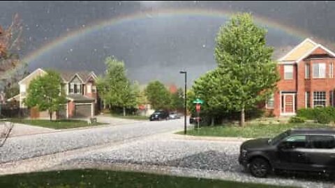
<path fill-rule="evenodd" d="M 265 108 L 274 116 L 297 109 L 334 106 L 335 54 L 307 38 L 278 60 L 281 80 Z"/>

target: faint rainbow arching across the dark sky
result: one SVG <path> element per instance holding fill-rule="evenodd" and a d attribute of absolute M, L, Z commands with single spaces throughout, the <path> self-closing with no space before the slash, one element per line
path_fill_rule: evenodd
<path fill-rule="evenodd" d="M 66 33 L 64 36 L 61 36 L 51 42 L 47 42 L 45 45 L 40 47 L 39 49 L 31 52 L 27 56 L 25 56 L 22 61 L 25 63 L 31 63 L 36 60 L 40 56 L 52 52 L 53 49 L 57 49 L 57 47 L 66 44 L 67 42 L 71 42 L 76 40 L 77 38 L 81 38 L 86 36 L 89 33 L 93 33 L 95 31 L 101 30 L 106 26 L 114 26 L 117 24 L 123 24 L 126 22 L 134 22 L 140 19 L 149 19 L 151 17 L 176 17 L 176 16 L 204 16 L 204 17 L 223 17 L 228 18 L 234 15 L 234 12 L 230 12 L 228 10 L 213 10 L 213 9 L 199 9 L 199 8 L 188 8 L 188 9 L 158 9 L 158 10 L 147 10 L 144 12 L 137 12 L 131 15 L 120 15 L 118 17 L 113 17 L 107 20 L 100 20 L 98 22 L 94 22 L 93 24 L 89 24 L 80 29 L 70 31 Z M 285 24 L 281 24 L 278 21 L 271 20 L 267 17 L 261 17 L 260 15 L 255 15 L 253 13 L 253 17 L 255 22 L 258 24 L 262 24 L 263 26 L 268 26 L 269 28 L 275 28 L 285 33 L 288 33 L 297 38 L 307 38 L 310 37 L 311 34 L 295 29 L 292 26 L 288 26 Z M 13 71 L 11 71 L 13 72 Z"/>

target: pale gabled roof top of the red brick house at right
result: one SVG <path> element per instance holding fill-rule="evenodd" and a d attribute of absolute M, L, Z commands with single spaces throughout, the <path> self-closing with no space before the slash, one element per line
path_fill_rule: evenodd
<path fill-rule="evenodd" d="M 282 58 L 280 58 L 278 61 L 285 63 L 297 63 L 301 61 L 302 59 L 309 56 L 312 52 L 315 51 L 315 49 L 318 48 L 324 49 L 325 52 L 328 54 L 335 56 L 334 52 L 327 49 L 326 47 L 314 42 L 313 40 L 306 38 L 304 41 L 302 41 L 299 45 L 297 45 L 295 48 L 293 48 L 288 54 L 285 54 Z"/>

